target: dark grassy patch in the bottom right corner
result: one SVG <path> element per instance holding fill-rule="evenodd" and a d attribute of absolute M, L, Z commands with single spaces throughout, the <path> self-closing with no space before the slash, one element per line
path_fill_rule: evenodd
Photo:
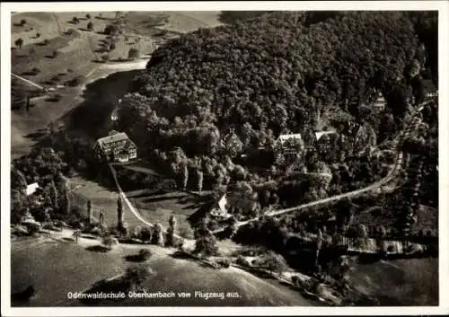
<path fill-rule="evenodd" d="M 437 305 L 438 259 L 359 264 L 350 283 L 385 305 Z"/>

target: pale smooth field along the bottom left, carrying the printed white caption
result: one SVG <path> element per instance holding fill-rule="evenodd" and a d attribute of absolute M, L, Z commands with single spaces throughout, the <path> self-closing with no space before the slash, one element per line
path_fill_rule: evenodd
<path fill-rule="evenodd" d="M 142 247 L 154 256 L 149 265 L 156 276 L 148 279 L 148 291 L 238 292 L 240 298 L 204 300 L 130 300 L 121 305 L 311 305 L 299 293 L 274 280 L 254 277 L 241 269 L 210 269 L 192 260 L 177 259 L 170 250 L 157 246 L 119 245 L 113 251 L 86 251 L 74 242 L 17 242 L 12 245 L 12 294 L 33 285 L 36 295 L 30 306 L 80 305 L 67 299 L 68 292 L 84 291 L 101 279 L 117 276 L 130 264 L 124 257 Z M 39 243 L 39 248 L 36 247 Z M 180 278 L 187 277 L 187 278 Z"/>

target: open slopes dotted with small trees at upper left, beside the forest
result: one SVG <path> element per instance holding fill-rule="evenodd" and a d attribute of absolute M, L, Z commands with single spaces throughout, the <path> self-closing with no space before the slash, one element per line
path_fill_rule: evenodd
<path fill-rule="evenodd" d="M 115 20 L 115 13 L 90 12 L 91 18 L 87 19 L 87 12 L 80 13 L 16 13 L 12 17 L 12 42 L 22 38 L 22 49 L 14 48 L 12 52 L 12 70 L 14 74 L 22 75 L 30 72 L 32 68 L 39 68 L 36 75 L 23 75 L 24 79 L 47 87 L 56 88 L 58 84 L 64 84 L 67 80 L 81 77 L 83 84 L 92 83 L 99 77 L 111 73 L 127 71 L 129 69 L 144 68 L 146 60 L 135 62 L 117 62 L 117 60 L 128 57 L 129 48 L 137 48 L 141 55 L 151 54 L 157 43 L 166 40 L 165 36 L 153 36 L 157 32 L 155 25 L 161 26 L 165 20 L 178 13 L 124 13 L 121 19 L 123 33 L 119 35 L 116 48 L 110 51 L 110 62 L 101 64 L 95 62 L 101 53 L 95 52 L 99 48 L 101 40 L 107 36 L 101 32 L 104 28 Z M 178 23 L 177 28 L 184 31 L 192 31 L 199 27 L 204 27 L 204 23 L 196 21 L 195 17 L 189 18 L 189 14 L 181 13 L 184 20 Z M 201 18 L 210 17 L 211 21 L 216 19 L 217 13 L 201 13 Z M 73 17 L 80 19 L 78 24 L 72 22 Z M 23 26 L 18 24 L 24 19 Z M 161 20 L 162 19 L 162 20 Z M 86 31 L 87 23 L 93 23 L 93 31 Z M 210 26 L 215 26 L 211 22 Z M 32 28 L 32 30 L 31 30 Z M 73 29 L 72 34 L 66 31 Z M 36 33 L 40 37 L 36 37 Z M 40 45 L 44 40 L 48 40 L 48 45 Z M 51 55 L 57 51 L 57 57 Z M 128 78 L 128 77 L 127 77 Z M 131 77 L 130 77 L 131 78 Z M 15 79 L 14 79 L 15 80 Z M 27 84 L 21 79 L 17 79 L 23 89 L 28 90 Z M 124 85 L 126 90 L 126 85 Z M 32 108 L 29 113 L 23 111 L 12 112 L 12 155 L 13 157 L 28 153 L 31 146 L 38 140 L 37 136 L 44 133 L 48 123 L 61 119 L 63 115 L 80 105 L 84 99 L 80 94 L 84 86 L 60 87 L 57 91 L 48 93 L 46 97 L 56 94 L 61 96 L 59 101 L 48 101 L 46 97 L 32 100 Z M 108 87 L 109 91 L 111 90 Z M 15 92 L 14 92 L 15 93 Z"/>

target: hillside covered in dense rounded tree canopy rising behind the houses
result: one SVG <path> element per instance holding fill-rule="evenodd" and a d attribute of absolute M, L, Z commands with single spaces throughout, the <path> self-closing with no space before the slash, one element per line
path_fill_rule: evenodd
<path fill-rule="evenodd" d="M 119 129 L 166 172 L 187 160 L 206 170 L 209 185 L 226 179 L 220 140 L 228 128 L 243 152 L 269 148 L 281 133 L 307 134 L 323 122 L 339 128 L 365 119 L 359 106 L 376 89 L 389 107 L 368 116 L 366 125 L 376 133 L 385 126 L 394 130 L 393 116 L 398 123 L 406 110 L 404 70 L 418 48 L 408 15 L 321 18 L 266 13 L 168 41 L 123 99 Z M 176 146 L 182 151 L 173 166 L 167 156 Z"/>

